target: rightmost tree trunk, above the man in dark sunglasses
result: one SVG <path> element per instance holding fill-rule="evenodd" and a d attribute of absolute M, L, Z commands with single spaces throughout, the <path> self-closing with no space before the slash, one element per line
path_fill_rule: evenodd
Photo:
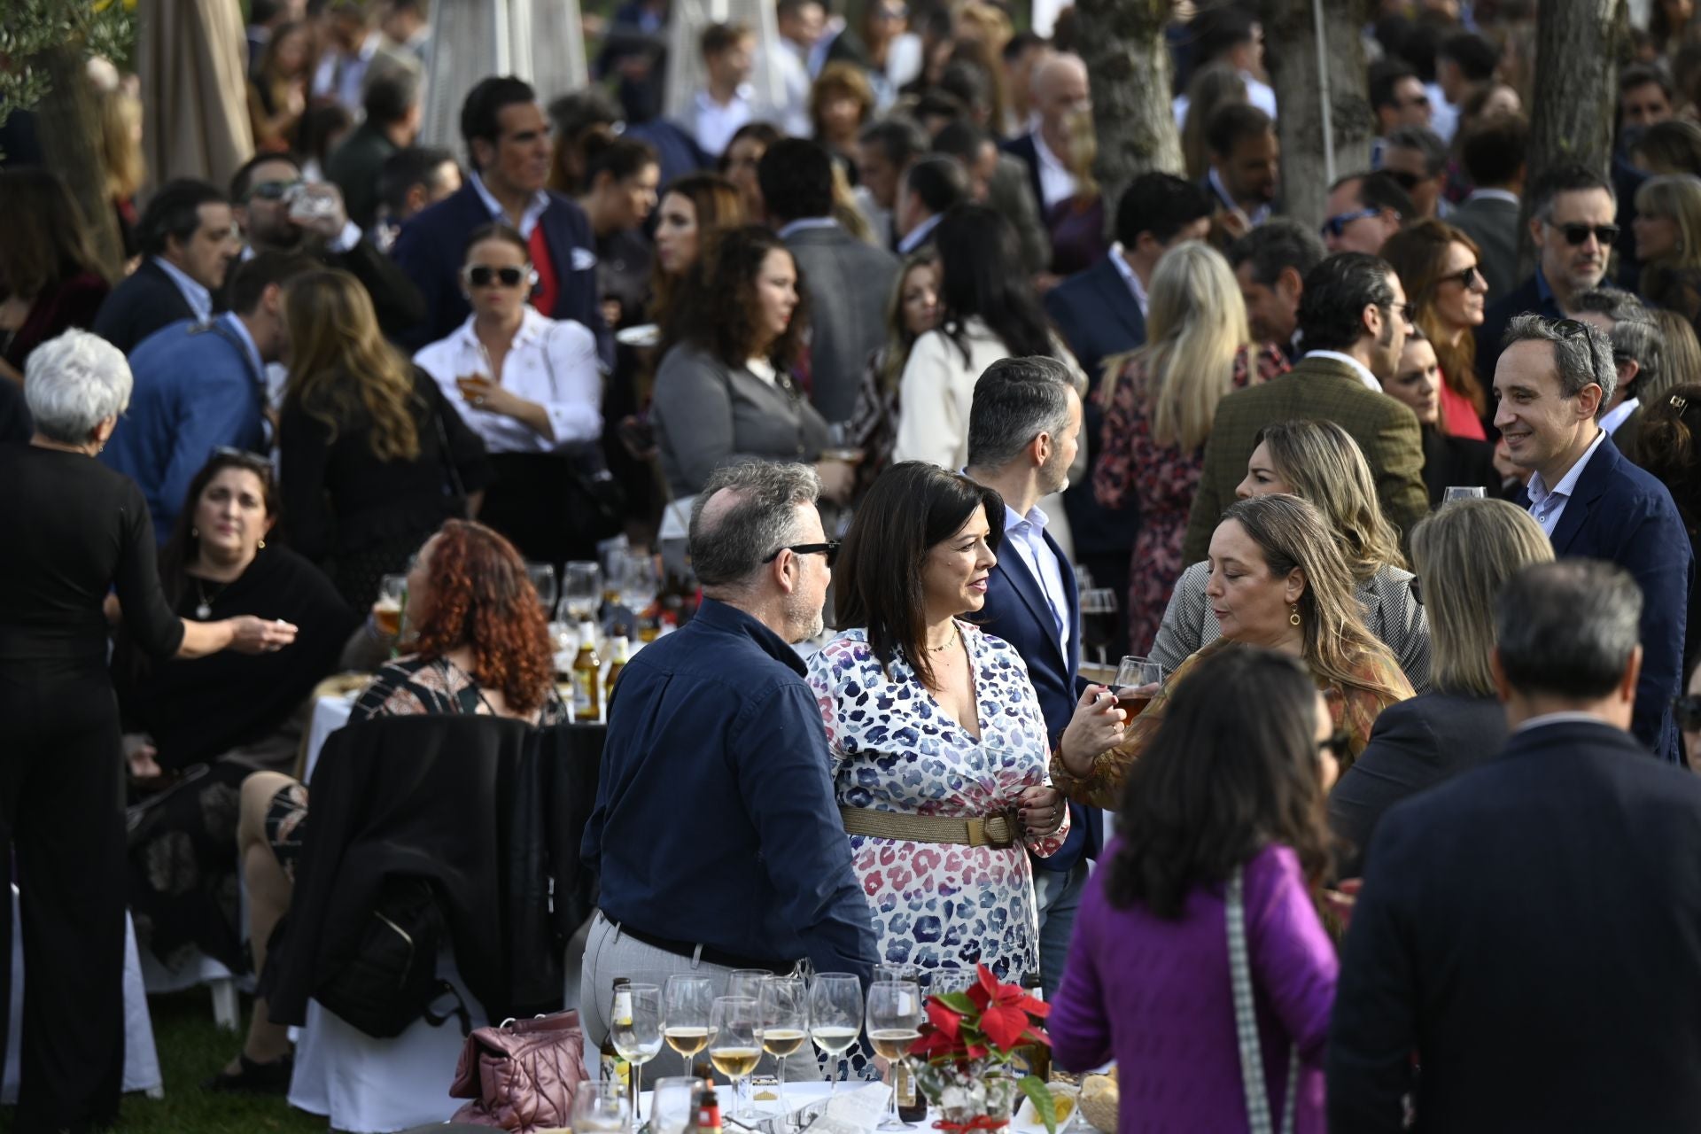
<path fill-rule="evenodd" d="M 1613 177 L 1618 66 L 1630 46 L 1626 0 L 1541 0 L 1536 9 L 1536 95 L 1531 99 L 1529 173 L 1582 162 Z M 1519 218 L 1519 269 L 1536 270 L 1529 196 Z"/>

